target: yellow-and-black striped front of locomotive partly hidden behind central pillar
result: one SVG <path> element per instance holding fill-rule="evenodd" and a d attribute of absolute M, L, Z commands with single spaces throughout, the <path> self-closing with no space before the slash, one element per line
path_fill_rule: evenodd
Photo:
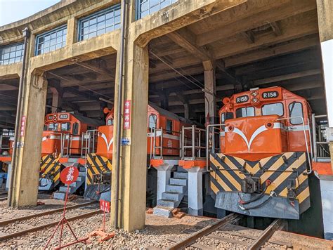
<path fill-rule="evenodd" d="M 86 158 L 86 183 L 87 185 L 92 185 L 93 176 L 99 176 L 100 174 L 111 172 L 112 164 L 109 159 L 102 157 L 98 154 L 88 154 Z"/>

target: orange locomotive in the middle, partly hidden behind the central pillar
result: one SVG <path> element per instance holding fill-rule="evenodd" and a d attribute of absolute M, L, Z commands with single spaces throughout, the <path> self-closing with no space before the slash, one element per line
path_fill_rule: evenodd
<path fill-rule="evenodd" d="M 100 194 L 103 192 L 100 190 L 110 190 L 107 185 L 110 186 L 110 172 L 112 170 L 114 110 L 113 108 L 112 110 L 105 108 L 104 112 L 107 114 L 106 124 L 99 126 L 97 129 L 96 150 L 92 150 L 86 156 L 86 197 L 93 197 L 94 199 L 98 198 L 95 197 L 96 192 Z M 179 157 L 181 129 L 183 126 L 190 124 L 190 121 L 149 103 L 147 124 L 148 165 L 152 158 Z M 91 131 L 90 133 L 95 132 Z M 150 177 L 148 176 L 148 178 Z M 152 187 L 152 190 L 154 189 L 156 188 Z M 105 199 L 110 199 L 110 197 L 107 196 Z"/>

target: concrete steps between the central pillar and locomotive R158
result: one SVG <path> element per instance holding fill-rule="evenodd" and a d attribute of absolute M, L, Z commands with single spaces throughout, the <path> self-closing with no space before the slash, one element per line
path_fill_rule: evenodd
<path fill-rule="evenodd" d="M 188 191 L 188 173 L 183 171 L 174 172 L 174 178 L 170 178 L 169 184 L 162 192 L 162 199 L 157 200 L 154 214 L 157 216 L 172 217 L 171 211 L 176 209 Z"/>

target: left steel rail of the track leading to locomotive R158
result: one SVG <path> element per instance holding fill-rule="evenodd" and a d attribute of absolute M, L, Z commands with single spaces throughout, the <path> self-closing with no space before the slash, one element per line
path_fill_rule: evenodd
<path fill-rule="evenodd" d="M 223 225 L 226 225 L 227 223 L 232 223 L 240 216 L 241 215 L 237 213 L 230 213 L 228 216 L 221 218 L 215 223 L 208 225 L 207 227 L 202 228 L 202 230 L 199 230 L 193 233 L 192 235 L 185 237 L 185 239 L 182 239 L 181 241 L 176 242 L 175 244 L 169 246 L 168 249 L 169 250 L 184 249 L 186 246 L 190 246 L 191 244 L 193 244 L 200 237 L 203 237 L 204 235 L 209 235 L 211 232 L 214 232 L 216 229 L 221 228 Z"/>

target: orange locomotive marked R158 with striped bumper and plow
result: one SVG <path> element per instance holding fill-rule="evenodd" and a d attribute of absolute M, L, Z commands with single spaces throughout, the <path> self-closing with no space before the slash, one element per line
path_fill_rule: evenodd
<path fill-rule="evenodd" d="M 311 107 L 285 88 L 252 89 L 223 99 L 220 152 L 209 148 L 218 209 L 299 219 L 310 207 Z M 213 125 L 211 125 L 213 126 Z"/>

